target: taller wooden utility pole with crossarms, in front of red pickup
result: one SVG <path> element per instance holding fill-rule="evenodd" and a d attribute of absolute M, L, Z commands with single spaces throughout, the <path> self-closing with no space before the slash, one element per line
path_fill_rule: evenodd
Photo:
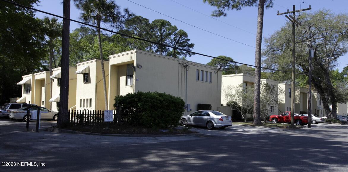
<path fill-rule="evenodd" d="M 287 10 L 287 12 L 283 12 L 283 13 L 277 13 L 277 15 L 283 15 L 283 14 L 291 14 L 292 16 L 289 15 L 285 15 L 285 17 L 287 19 L 290 20 L 290 22 L 292 23 L 292 73 L 291 73 L 291 127 L 294 127 L 294 112 L 295 112 L 295 26 L 301 26 L 301 23 L 299 23 L 296 19 L 295 19 L 295 13 L 296 12 L 300 12 L 300 11 L 306 11 L 306 10 L 310 10 L 312 9 L 309 5 L 309 8 L 306 9 L 301 9 L 301 10 L 295 10 L 295 5 L 292 6 L 292 11 L 289 11 L 289 9 Z"/>

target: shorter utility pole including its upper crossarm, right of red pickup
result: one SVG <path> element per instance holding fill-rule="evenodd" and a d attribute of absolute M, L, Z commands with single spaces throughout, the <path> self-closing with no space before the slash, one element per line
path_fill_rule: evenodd
<path fill-rule="evenodd" d="M 309 58 L 308 58 L 308 104 L 307 104 L 307 117 L 308 117 L 308 128 L 310 128 L 310 123 L 312 121 L 312 109 L 311 109 L 311 102 L 312 102 L 312 58 L 314 57 L 314 50 L 312 48 L 312 42 L 316 39 L 324 38 L 318 37 L 318 38 L 312 38 L 296 43 L 301 43 L 301 42 L 307 42 L 308 43 L 308 49 L 309 49 Z"/>

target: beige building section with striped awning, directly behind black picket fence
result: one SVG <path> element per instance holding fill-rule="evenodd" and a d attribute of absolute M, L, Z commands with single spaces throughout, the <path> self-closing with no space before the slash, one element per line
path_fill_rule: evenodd
<path fill-rule="evenodd" d="M 106 91 L 109 87 L 109 61 L 104 60 Z M 77 64 L 76 110 L 105 110 L 101 60 Z"/>

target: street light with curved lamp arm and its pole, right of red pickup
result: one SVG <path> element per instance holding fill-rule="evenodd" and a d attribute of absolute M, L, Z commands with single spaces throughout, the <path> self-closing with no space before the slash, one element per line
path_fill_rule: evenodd
<path fill-rule="evenodd" d="M 308 117 L 308 128 L 310 128 L 310 123 L 312 121 L 312 110 L 311 110 L 311 99 L 312 99 L 312 93 L 311 93 L 311 87 L 312 87 L 312 58 L 314 57 L 314 50 L 310 49 L 309 50 L 309 69 L 308 69 L 308 108 L 307 108 L 307 117 Z M 335 59 L 334 57 L 327 57 L 327 58 L 322 58 L 319 60 L 333 60 Z M 317 60 L 317 61 L 319 61 Z M 314 63 L 316 63 L 315 61 Z"/>

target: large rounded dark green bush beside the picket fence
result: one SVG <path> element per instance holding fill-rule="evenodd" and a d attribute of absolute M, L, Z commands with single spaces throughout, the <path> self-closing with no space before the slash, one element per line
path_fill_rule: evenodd
<path fill-rule="evenodd" d="M 180 97 L 158 92 L 137 92 L 116 96 L 118 123 L 149 128 L 179 124 L 185 102 Z"/>

